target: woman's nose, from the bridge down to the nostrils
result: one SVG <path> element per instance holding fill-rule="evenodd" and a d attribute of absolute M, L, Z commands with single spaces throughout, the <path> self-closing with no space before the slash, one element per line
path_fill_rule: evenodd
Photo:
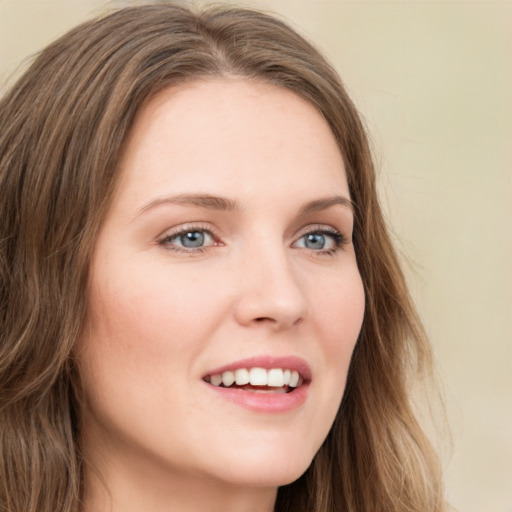
<path fill-rule="evenodd" d="M 304 286 L 301 286 L 298 270 L 291 265 L 286 251 L 285 247 L 274 247 L 244 257 L 235 306 L 239 324 L 266 325 L 280 331 L 296 326 L 306 318 L 308 302 Z"/>

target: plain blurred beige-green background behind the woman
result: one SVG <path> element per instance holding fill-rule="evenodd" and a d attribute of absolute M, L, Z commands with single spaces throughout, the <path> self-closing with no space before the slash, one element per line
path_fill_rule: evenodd
<path fill-rule="evenodd" d="M 465 512 L 512 512 L 512 3 L 245 3 L 317 42 L 366 117 L 446 385 L 450 498 Z M 0 83 L 105 5 L 0 0 Z"/>

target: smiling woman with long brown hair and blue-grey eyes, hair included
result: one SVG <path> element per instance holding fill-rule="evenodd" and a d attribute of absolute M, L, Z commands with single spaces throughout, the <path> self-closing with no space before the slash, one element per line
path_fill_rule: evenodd
<path fill-rule="evenodd" d="M 429 347 L 310 44 L 120 10 L 0 125 L 3 509 L 445 510 L 409 396 Z"/>

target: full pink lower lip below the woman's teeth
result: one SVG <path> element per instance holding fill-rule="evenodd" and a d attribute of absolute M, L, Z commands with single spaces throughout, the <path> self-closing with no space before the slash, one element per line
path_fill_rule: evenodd
<path fill-rule="evenodd" d="M 308 396 L 309 384 L 302 384 L 290 393 L 256 393 L 239 388 L 222 388 L 205 383 L 209 389 L 229 402 L 256 412 L 287 412 L 300 407 Z"/>

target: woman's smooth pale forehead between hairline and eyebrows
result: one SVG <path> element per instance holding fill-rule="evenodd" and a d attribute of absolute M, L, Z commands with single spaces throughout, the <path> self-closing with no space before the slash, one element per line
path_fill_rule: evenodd
<path fill-rule="evenodd" d="M 142 200 L 191 187 L 219 195 L 348 197 L 341 153 L 315 107 L 287 89 L 234 78 L 163 90 L 135 120 L 121 189 Z"/>

